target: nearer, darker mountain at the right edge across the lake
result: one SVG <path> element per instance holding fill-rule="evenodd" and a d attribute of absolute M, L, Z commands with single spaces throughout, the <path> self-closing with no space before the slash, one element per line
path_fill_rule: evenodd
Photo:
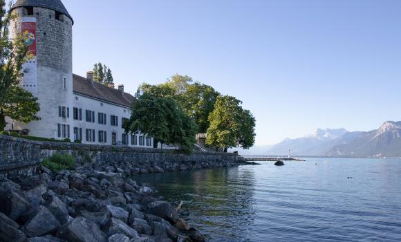
<path fill-rule="evenodd" d="M 401 157 L 401 122 L 384 122 L 379 129 L 360 132 L 346 144 L 328 150 L 327 156 Z"/>

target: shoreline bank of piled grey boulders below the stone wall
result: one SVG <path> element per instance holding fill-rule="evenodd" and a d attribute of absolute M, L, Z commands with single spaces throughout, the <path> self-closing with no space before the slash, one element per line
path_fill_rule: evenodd
<path fill-rule="evenodd" d="M 86 163 L 71 171 L 41 166 L 32 176 L 2 178 L 0 241 L 208 241 L 180 210 L 129 174 L 119 165 Z"/>

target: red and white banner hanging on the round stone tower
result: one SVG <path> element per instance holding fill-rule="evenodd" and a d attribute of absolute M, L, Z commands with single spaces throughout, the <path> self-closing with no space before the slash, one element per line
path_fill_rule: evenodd
<path fill-rule="evenodd" d="M 23 17 L 21 21 L 21 34 L 24 37 L 25 44 L 29 48 L 32 56 L 23 67 L 24 77 L 22 79 L 22 87 L 26 91 L 37 94 L 37 58 L 36 58 L 36 18 Z"/>

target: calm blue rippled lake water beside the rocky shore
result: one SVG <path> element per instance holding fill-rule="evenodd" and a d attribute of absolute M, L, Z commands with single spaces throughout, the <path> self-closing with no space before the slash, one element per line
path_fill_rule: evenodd
<path fill-rule="evenodd" d="M 401 160 L 309 158 L 136 180 L 185 201 L 187 220 L 212 241 L 401 241 Z"/>

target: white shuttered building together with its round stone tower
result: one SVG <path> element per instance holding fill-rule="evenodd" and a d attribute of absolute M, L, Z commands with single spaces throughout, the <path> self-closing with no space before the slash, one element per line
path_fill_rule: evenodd
<path fill-rule="evenodd" d="M 34 56 L 24 64 L 21 86 L 38 97 L 41 120 L 21 124 L 9 118 L 6 128 L 30 136 L 86 144 L 153 147 L 153 138 L 124 133 L 134 97 L 118 89 L 73 75 L 73 18 L 60 0 L 18 0 L 11 8 L 12 36 L 22 32 Z"/>

